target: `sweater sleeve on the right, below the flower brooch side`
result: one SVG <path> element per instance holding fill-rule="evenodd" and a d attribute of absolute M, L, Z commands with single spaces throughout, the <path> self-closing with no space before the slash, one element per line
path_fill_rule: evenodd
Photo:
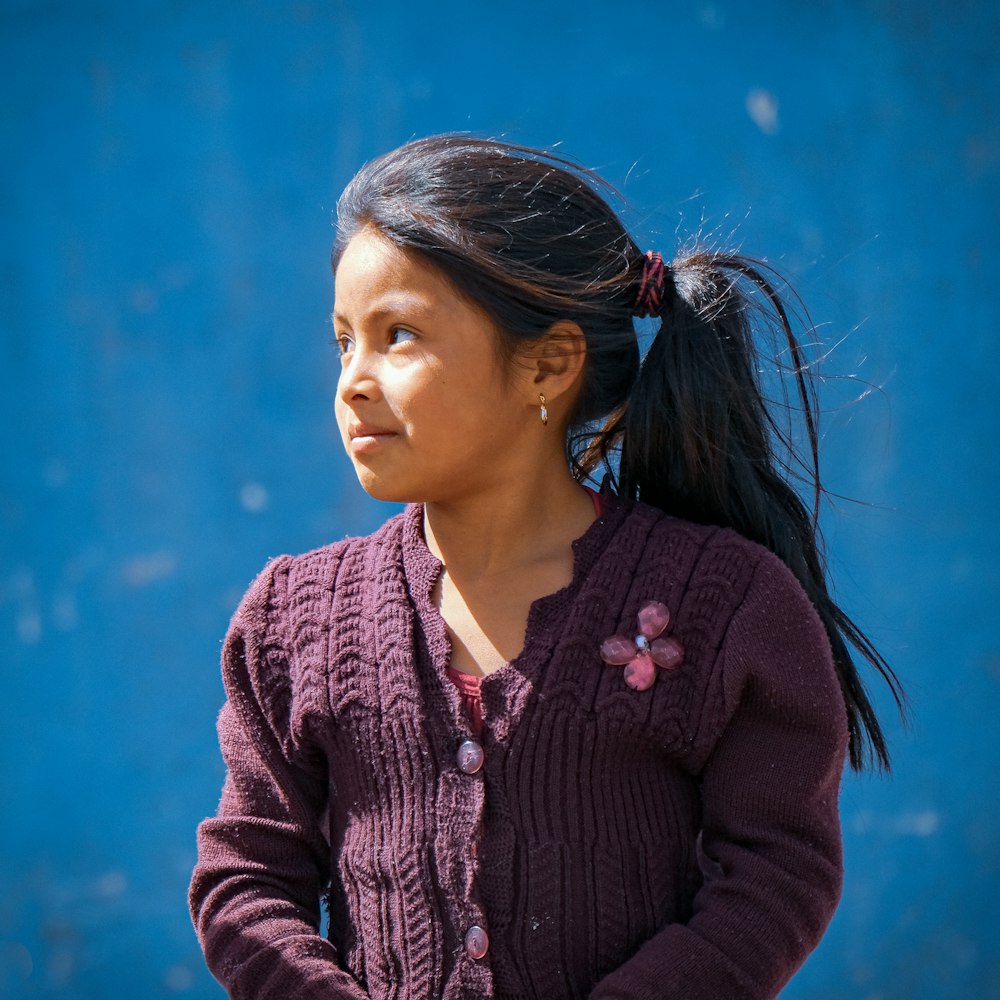
<path fill-rule="evenodd" d="M 847 714 L 822 622 L 770 553 L 721 656 L 723 724 L 701 773 L 710 872 L 692 918 L 645 942 L 590 1000 L 768 1000 L 837 907 Z"/>

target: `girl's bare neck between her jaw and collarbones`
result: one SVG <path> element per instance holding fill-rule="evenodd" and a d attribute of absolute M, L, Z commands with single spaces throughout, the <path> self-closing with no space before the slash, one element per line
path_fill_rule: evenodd
<path fill-rule="evenodd" d="M 449 576 L 481 580 L 564 553 L 593 521 L 590 495 L 559 469 L 527 485 L 425 504 L 424 537 Z"/>

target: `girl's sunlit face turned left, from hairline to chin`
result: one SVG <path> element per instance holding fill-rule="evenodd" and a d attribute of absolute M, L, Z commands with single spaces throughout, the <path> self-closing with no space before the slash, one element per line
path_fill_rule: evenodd
<path fill-rule="evenodd" d="M 368 493 L 448 502 L 522 471 L 537 392 L 505 377 L 485 313 L 374 229 L 345 248 L 335 296 L 337 423 Z"/>

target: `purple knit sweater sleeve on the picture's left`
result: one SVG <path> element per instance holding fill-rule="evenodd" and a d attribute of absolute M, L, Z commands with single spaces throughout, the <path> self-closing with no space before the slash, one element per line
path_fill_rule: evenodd
<path fill-rule="evenodd" d="M 260 574 L 223 645 L 227 774 L 215 817 L 198 828 L 189 904 L 208 967 L 234 1000 L 366 1000 L 319 933 L 327 776 L 291 732 L 287 563 Z"/>

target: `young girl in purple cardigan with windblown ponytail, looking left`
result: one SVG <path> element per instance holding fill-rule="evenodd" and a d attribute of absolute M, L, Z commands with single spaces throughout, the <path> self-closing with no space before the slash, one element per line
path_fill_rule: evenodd
<path fill-rule="evenodd" d="M 782 474 L 755 301 L 818 501 L 804 362 L 759 268 L 643 253 L 601 191 L 439 136 L 341 198 L 337 418 L 409 506 L 233 618 L 190 891 L 232 997 L 762 1000 L 833 915 L 845 756 L 888 766 L 848 647 L 901 691 Z"/>

